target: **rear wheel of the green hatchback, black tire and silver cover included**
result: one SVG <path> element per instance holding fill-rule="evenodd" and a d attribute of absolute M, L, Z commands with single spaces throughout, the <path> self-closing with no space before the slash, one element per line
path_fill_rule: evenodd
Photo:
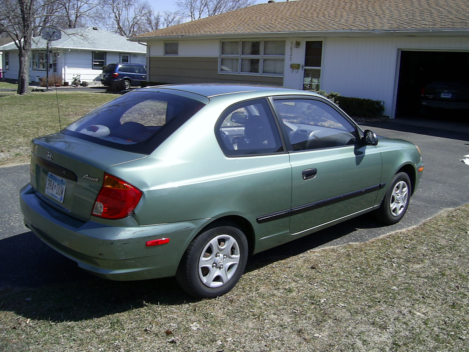
<path fill-rule="evenodd" d="M 233 224 L 213 227 L 194 238 L 187 247 L 176 280 L 196 298 L 218 297 L 239 281 L 247 258 L 248 242 L 240 229 Z"/>

